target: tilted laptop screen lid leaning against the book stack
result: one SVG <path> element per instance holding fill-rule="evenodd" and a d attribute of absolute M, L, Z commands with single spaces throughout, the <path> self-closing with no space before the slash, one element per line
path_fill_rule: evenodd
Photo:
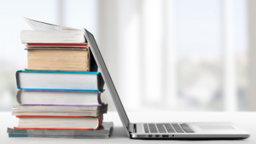
<path fill-rule="evenodd" d="M 84 35 L 86 37 L 86 40 L 89 43 L 92 54 L 94 55 L 94 57 L 96 59 L 96 63 L 101 69 L 102 77 L 104 78 L 105 83 L 108 85 L 108 89 L 109 89 L 110 95 L 112 96 L 113 103 L 114 103 L 117 111 L 119 112 L 119 117 L 121 118 L 121 121 L 124 124 L 124 126 L 126 127 L 126 129 L 129 129 L 128 125 L 129 125 L 130 121 L 126 115 L 126 112 L 122 105 L 122 102 L 119 99 L 119 95 L 113 85 L 113 81 L 108 73 L 107 66 L 105 65 L 105 62 L 102 58 L 100 49 L 98 48 L 98 46 L 96 44 L 96 40 L 93 37 L 93 35 L 85 29 L 84 29 Z"/>

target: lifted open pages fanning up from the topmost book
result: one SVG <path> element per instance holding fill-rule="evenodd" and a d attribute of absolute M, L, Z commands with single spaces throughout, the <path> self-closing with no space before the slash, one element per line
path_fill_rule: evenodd
<path fill-rule="evenodd" d="M 24 18 L 24 20 L 26 20 L 27 24 L 35 31 L 82 31 L 71 27 L 56 26 L 38 20 L 31 20 L 27 18 Z"/>

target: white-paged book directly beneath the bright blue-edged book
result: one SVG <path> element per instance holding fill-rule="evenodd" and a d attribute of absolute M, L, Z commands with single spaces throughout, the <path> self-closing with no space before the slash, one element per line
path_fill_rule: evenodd
<path fill-rule="evenodd" d="M 100 91 L 19 90 L 20 105 L 44 106 L 101 106 Z"/>

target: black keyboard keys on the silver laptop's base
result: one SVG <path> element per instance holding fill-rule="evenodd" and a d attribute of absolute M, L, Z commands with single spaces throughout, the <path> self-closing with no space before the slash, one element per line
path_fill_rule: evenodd
<path fill-rule="evenodd" d="M 143 124 L 145 133 L 195 133 L 188 124 Z"/>

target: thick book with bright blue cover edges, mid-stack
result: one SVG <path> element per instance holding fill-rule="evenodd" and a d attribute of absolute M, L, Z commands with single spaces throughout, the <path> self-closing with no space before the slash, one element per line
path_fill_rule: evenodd
<path fill-rule="evenodd" d="M 17 71 L 18 89 L 103 91 L 100 72 Z"/>

